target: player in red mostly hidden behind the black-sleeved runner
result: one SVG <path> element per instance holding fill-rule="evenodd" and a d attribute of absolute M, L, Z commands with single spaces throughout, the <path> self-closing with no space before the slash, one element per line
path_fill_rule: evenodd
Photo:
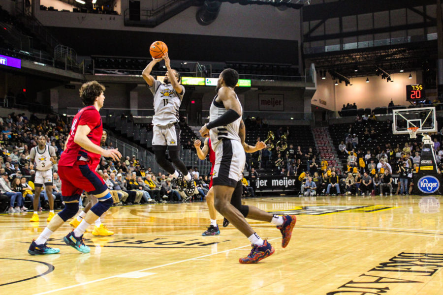
<path fill-rule="evenodd" d="M 244 130 L 239 130 L 239 134 L 244 133 Z M 243 148 L 245 149 L 246 152 L 256 152 L 260 149 L 266 148 L 266 144 L 263 142 L 257 142 L 255 147 L 253 146 L 249 146 L 247 143 L 244 142 L 243 137 L 242 138 L 242 145 Z M 215 165 L 215 152 L 212 149 L 212 145 L 211 145 L 211 139 L 210 138 L 206 138 L 203 148 L 200 148 L 201 145 L 201 141 L 200 140 L 196 140 L 194 142 L 194 147 L 195 150 L 197 151 L 197 156 L 200 160 L 204 160 L 206 159 L 206 155 L 209 152 L 209 161 L 211 162 L 211 181 L 209 182 L 209 191 L 206 194 L 206 203 L 208 204 L 208 208 L 209 208 L 209 218 L 211 220 L 211 224 L 208 227 L 208 229 L 201 234 L 202 236 L 217 236 L 220 235 L 220 230 L 219 230 L 219 226 L 217 225 L 217 210 L 214 207 L 214 190 L 212 188 L 212 176 L 214 173 L 214 165 Z M 228 221 L 225 218 L 225 221 L 223 221 L 223 226 L 226 227 L 228 225 Z"/>

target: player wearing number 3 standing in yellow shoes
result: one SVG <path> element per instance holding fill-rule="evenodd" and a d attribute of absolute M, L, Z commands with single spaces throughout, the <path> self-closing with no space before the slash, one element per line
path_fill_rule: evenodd
<path fill-rule="evenodd" d="M 34 180 L 34 214 L 32 214 L 31 222 L 36 222 L 38 218 L 38 200 L 40 199 L 40 192 L 43 184 L 45 185 L 46 194 L 48 195 L 49 202 L 49 216 L 46 219 L 48 222 L 54 217 L 54 198 L 52 196 L 52 182 L 53 171 L 52 165 L 57 164 L 56 151 L 52 146 L 46 145 L 46 138 L 39 136 L 37 140 L 37 146 L 31 149 L 29 153 L 29 160 L 35 162 L 35 180 Z"/>

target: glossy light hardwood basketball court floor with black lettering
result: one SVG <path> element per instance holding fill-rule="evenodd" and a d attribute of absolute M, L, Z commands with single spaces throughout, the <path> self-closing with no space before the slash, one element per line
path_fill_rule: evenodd
<path fill-rule="evenodd" d="M 285 249 L 274 226 L 252 222 L 276 248 L 256 265 L 238 263 L 251 248 L 232 226 L 221 227 L 220 236 L 201 236 L 208 223 L 205 203 L 112 207 L 104 223 L 115 235 L 85 234 L 90 254 L 64 245 L 66 223 L 49 242 L 59 254 L 28 255 L 46 222 L 31 224 L 32 213 L 0 215 L 0 294 L 441 295 L 440 201 L 249 199 L 261 209 L 299 214 Z"/>

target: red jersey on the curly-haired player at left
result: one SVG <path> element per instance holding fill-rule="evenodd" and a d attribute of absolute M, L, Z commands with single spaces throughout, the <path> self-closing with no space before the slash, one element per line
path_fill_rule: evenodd
<path fill-rule="evenodd" d="M 91 169 L 95 169 L 100 161 L 101 155 L 90 152 L 74 143 L 75 133 L 79 125 L 88 125 L 89 128 L 91 128 L 88 138 L 95 145 L 100 146 L 100 140 L 103 134 L 103 124 L 100 113 L 98 113 L 94 106 L 87 106 L 81 109 L 72 120 L 69 140 L 60 157 L 59 166 L 73 166 L 77 161 L 83 161 L 86 162 L 90 168 L 93 167 Z"/>

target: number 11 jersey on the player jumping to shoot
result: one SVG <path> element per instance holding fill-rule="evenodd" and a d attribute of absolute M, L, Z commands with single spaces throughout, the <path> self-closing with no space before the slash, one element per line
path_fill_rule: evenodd
<path fill-rule="evenodd" d="M 181 94 L 178 94 L 171 84 L 162 84 L 158 80 L 155 80 L 153 86 L 149 87 L 154 94 L 155 115 L 152 119 L 154 125 L 165 126 L 179 121 L 179 108 L 185 94 L 185 88 L 181 87 Z"/>

